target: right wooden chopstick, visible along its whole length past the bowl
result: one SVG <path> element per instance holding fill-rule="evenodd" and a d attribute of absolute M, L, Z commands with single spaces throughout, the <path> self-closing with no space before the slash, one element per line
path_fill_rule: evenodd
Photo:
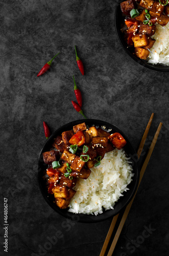
<path fill-rule="evenodd" d="M 142 169 L 141 169 L 141 171 L 140 171 L 140 178 L 139 178 L 138 187 L 139 187 L 140 182 L 142 181 L 142 178 L 143 178 L 143 175 L 144 175 L 144 173 L 145 173 L 146 167 L 147 167 L 147 165 L 148 165 L 148 163 L 149 163 L 151 154 L 152 154 L 152 152 L 153 152 L 153 150 L 154 150 L 154 146 L 155 146 L 155 144 L 156 144 L 158 135 L 159 135 L 159 133 L 160 133 L 161 126 L 162 126 L 162 123 L 160 123 L 159 126 L 158 126 L 158 129 L 157 129 L 157 131 L 156 131 L 156 133 L 155 133 L 155 135 L 154 135 L 153 141 L 152 141 L 152 143 L 151 143 L 151 145 L 150 145 L 148 154 L 147 154 L 147 156 L 146 156 L 145 162 L 144 162 L 144 164 L 143 164 L 143 166 L 142 166 Z M 138 187 L 137 187 L 137 189 L 138 189 Z M 137 190 L 136 190 L 136 192 L 135 192 L 135 195 L 136 195 L 136 193 L 137 193 Z M 134 195 L 134 197 L 135 197 L 135 195 Z M 114 238 L 114 240 L 112 241 L 112 244 L 111 244 L 111 247 L 110 247 L 110 249 L 109 249 L 109 251 L 108 251 L 107 256 L 111 256 L 112 253 L 114 252 L 115 246 L 116 246 L 116 244 L 117 244 L 117 241 L 118 241 L 118 239 L 119 239 L 120 233 L 121 233 L 121 231 L 122 231 L 122 228 L 123 228 L 124 223 L 125 223 L 125 221 L 126 221 L 126 218 L 127 218 L 127 216 L 128 216 L 128 213 L 129 213 L 129 210 L 130 210 L 130 208 L 131 208 L 131 205 L 132 205 L 132 202 L 133 202 L 133 200 L 134 200 L 134 197 L 132 198 L 132 200 L 130 201 L 130 203 L 127 205 L 127 207 L 126 207 L 126 209 L 125 209 L 125 212 L 124 212 L 124 214 L 123 214 L 122 220 L 121 220 L 120 225 L 119 225 L 119 227 L 118 227 L 118 230 L 117 230 L 117 232 L 116 232 L 116 234 L 115 234 L 115 238 Z"/>

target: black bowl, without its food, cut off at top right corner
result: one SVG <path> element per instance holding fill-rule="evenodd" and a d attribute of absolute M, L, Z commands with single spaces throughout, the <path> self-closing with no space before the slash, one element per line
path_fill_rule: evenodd
<path fill-rule="evenodd" d="M 118 35 L 118 38 L 124 48 L 124 50 L 127 52 L 127 54 L 134 59 L 137 63 L 139 63 L 140 65 L 149 68 L 149 69 L 153 69 L 156 71 L 164 71 L 164 72 L 169 72 L 169 67 L 168 66 L 163 66 L 163 65 L 153 65 L 148 63 L 146 60 L 143 59 L 139 59 L 138 57 L 136 57 L 133 52 L 134 52 L 134 47 L 129 47 L 127 48 L 127 43 L 125 42 L 124 39 L 124 33 L 122 33 L 121 28 L 122 25 L 124 24 L 124 19 L 125 17 L 122 15 L 122 11 L 120 9 L 120 3 L 124 2 L 124 0 L 117 0 L 116 3 L 116 10 L 115 10 L 115 27 L 116 27 L 116 33 Z"/>

